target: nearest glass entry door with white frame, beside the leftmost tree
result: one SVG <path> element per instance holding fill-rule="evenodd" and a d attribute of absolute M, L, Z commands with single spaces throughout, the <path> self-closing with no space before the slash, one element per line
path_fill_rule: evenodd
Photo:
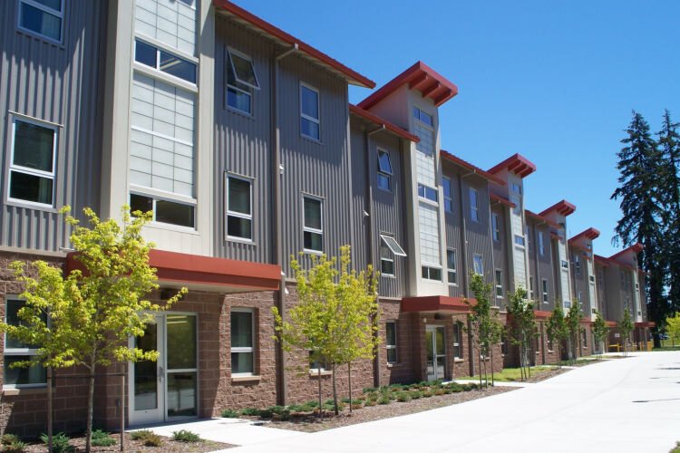
<path fill-rule="evenodd" d="M 196 315 L 163 313 L 154 317 L 131 346 L 158 351 L 158 361 L 130 364 L 131 425 L 198 415 Z"/>

